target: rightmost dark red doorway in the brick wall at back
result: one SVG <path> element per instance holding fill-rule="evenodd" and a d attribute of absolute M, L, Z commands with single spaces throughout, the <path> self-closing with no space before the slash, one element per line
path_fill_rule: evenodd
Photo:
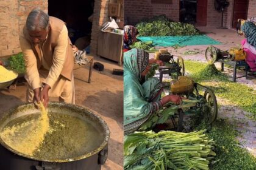
<path fill-rule="evenodd" d="M 247 19 L 248 0 L 234 0 L 232 27 L 236 28 L 238 19 Z"/>

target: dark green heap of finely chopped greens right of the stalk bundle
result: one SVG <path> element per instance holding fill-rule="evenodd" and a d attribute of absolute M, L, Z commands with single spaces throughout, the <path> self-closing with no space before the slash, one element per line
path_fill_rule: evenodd
<path fill-rule="evenodd" d="M 216 120 L 210 131 L 209 138 L 215 141 L 215 160 L 212 161 L 210 169 L 214 170 L 254 170 L 256 169 L 256 158 L 246 149 L 239 146 L 236 140 L 238 132 L 235 127 L 225 120 Z"/>

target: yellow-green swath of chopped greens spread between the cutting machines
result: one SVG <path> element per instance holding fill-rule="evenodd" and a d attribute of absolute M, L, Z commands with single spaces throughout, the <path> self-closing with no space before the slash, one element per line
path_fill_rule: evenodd
<path fill-rule="evenodd" d="M 252 118 L 256 120 L 256 90 L 229 81 L 227 75 L 219 72 L 214 65 L 188 60 L 185 61 L 185 68 L 197 83 L 209 86 L 215 90 L 217 97 L 228 100 L 246 112 L 251 112 Z"/>

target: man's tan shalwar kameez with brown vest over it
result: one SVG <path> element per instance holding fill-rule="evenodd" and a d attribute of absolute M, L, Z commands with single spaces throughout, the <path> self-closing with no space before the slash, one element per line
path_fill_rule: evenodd
<path fill-rule="evenodd" d="M 60 19 L 50 16 L 49 20 L 49 33 L 40 44 L 30 41 L 26 26 L 20 35 L 28 83 L 27 101 L 32 102 L 33 90 L 46 83 L 51 87 L 49 97 L 74 104 L 74 56 L 68 30 Z"/>

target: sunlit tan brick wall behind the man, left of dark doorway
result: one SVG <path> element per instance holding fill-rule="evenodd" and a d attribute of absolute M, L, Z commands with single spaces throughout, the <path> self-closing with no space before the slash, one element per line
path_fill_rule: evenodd
<path fill-rule="evenodd" d="M 48 0 L 0 0 L 0 56 L 21 52 L 19 35 L 29 12 L 48 9 Z"/>

